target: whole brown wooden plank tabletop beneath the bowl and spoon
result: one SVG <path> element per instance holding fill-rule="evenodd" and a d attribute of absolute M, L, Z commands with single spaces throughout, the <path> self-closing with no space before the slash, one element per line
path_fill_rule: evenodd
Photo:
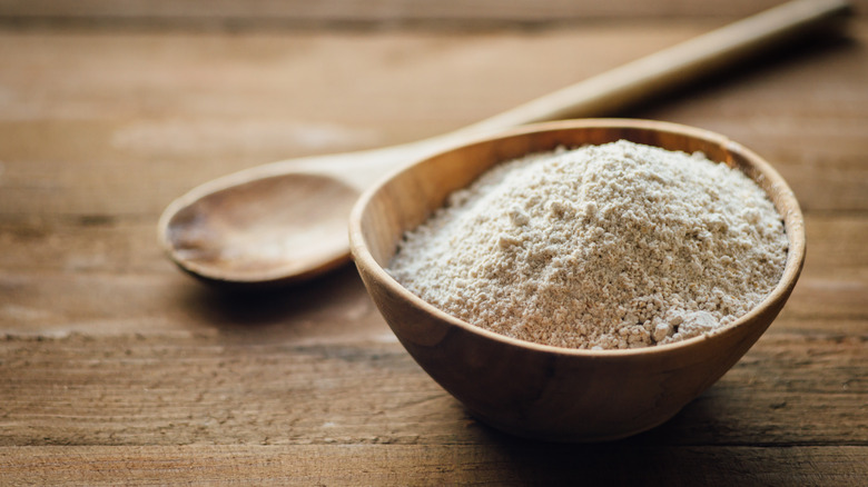
<path fill-rule="evenodd" d="M 165 206 L 214 177 L 455 129 L 773 3 L 0 0 L 0 484 L 868 484 L 858 13 L 844 37 L 601 113 L 742 142 L 807 220 L 768 332 L 632 438 L 475 421 L 351 265 L 228 295 L 156 242 Z"/>

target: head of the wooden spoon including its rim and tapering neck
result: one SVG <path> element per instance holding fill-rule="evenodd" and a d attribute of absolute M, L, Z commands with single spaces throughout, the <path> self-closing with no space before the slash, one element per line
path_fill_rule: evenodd
<path fill-rule="evenodd" d="M 178 267 L 224 287 L 314 278 L 349 261 L 346 225 L 362 191 L 388 169 L 448 143 L 427 139 L 225 176 L 166 208 L 157 226 L 160 245 Z"/>

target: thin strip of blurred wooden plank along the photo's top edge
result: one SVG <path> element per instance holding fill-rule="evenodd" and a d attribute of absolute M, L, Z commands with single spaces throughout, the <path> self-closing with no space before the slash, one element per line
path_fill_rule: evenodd
<path fill-rule="evenodd" d="M 0 0 L 0 19 L 13 26 L 79 21 L 122 22 L 125 26 L 229 26 L 234 28 L 297 26 L 365 26 L 425 23 L 446 26 L 504 26 L 586 21 L 606 18 L 746 17 L 773 7 L 775 0 L 683 2 L 658 0 L 411 0 L 346 1 L 250 0 L 244 4 L 205 0 Z M 855 3 L 864 6 L 864 0 Z"/>

